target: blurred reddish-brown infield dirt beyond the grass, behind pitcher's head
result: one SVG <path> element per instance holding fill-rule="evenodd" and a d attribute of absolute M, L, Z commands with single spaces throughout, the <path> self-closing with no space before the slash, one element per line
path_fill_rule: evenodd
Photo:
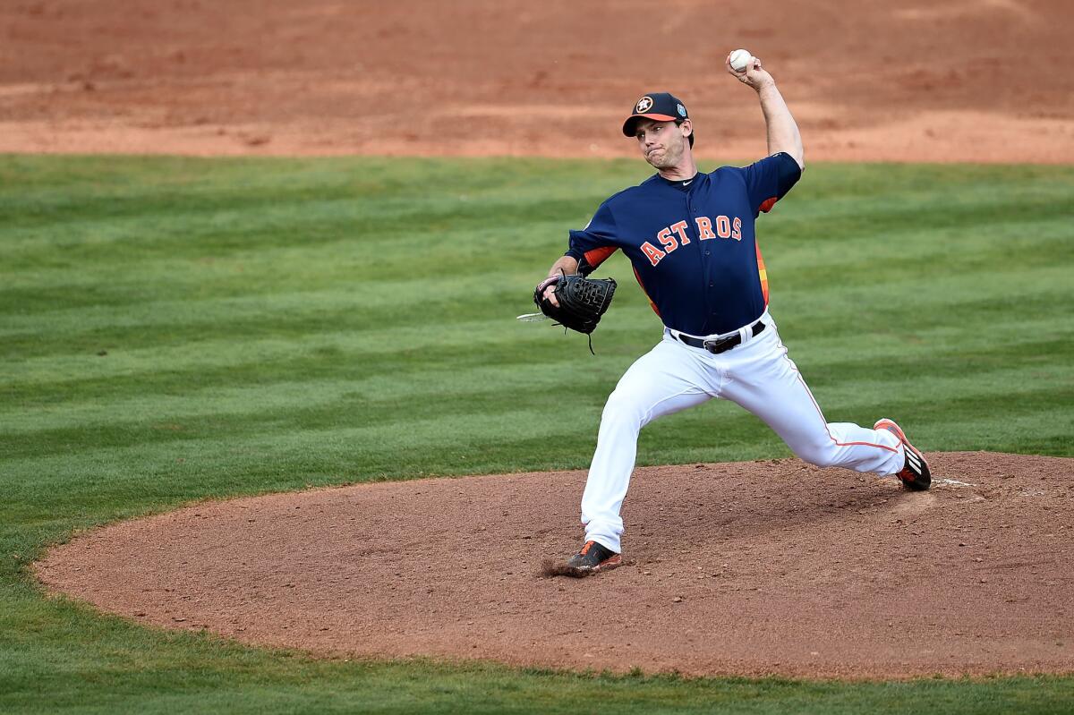
<path fill-rule="evenodd" d="M 1074 161 L 1070 0 L 11 0 L 0 151 L 635 156 L 644 91 L 756 158 L 760 57 L 807 157 Z"/>

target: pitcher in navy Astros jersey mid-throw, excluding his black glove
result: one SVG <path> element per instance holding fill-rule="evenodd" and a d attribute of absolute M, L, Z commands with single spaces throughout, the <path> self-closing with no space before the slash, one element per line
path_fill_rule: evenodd
<path fill-rule="evenodd" d="M 727 72 L 757 92 L 769 156 L 745 167 L 699 173 L 686 105 L 667 92 L 642 96 L 623 133 L 656 173 L 601 203 L 584 229 L 570 231 L 566 254 L 537 286 L 538 305 L 552 315 L 566 277 L 587 276 L 621 250 L 664 323 L 661 341 L 608 397 L 582 495 L 584 543 L 556 572 L 581 577 L 622 564 L 620 509 L 638 433 L 713 397 L 756 414 L 811 464 L 895 476 L 912 491 L 931 483 L 925 456 L 891 420 L 872 428 L 825 420 L 787 356 L 768 310 L 755 222 L 801 178 L 802 142 L 760 60 L 746 55 L 736 64 L 742 69 L 736 71 L 728 56 Z"/>

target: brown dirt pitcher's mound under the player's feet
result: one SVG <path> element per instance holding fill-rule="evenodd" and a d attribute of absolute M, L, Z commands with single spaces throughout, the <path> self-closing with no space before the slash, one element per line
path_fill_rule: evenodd
<path fill-rule="evenodd" d="M 584 472 L 206 502 L 90 531 L 53 589 L 166 628 L 359 656 L 871 677 L 1074 671 L 1074 459 L 930 455 L 933 490 L 795 459 L 639 469 L 629 564 L 579 544 Z"/>

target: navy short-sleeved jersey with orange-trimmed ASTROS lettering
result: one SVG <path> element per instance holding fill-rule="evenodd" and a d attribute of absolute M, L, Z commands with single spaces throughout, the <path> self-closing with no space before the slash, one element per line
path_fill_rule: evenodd
<path fill-rule="evenodd" d="M 754 220 L 800 176 L 783 152 L 686 181 L 656 174 L 600 204 L 584 230 L 570 232 L 567 256 L 587 275 L 622 250 L 665 325 L 690 335 L 729 333 L 768 305 Z"/>

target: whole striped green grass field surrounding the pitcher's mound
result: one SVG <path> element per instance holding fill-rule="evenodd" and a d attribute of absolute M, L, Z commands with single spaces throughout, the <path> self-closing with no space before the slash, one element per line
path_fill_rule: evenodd
<path fill-rule="evenodd" d="M 513 320 L 639 161 L 0 157 L 0 712 L 1070 713 L 1074 677 L 682 680 L 315 660 L 46 597 L 78 529 L 195 499 L 581 468 L 658 338 Z M 702 166 L 702 169 L 711 169 Z M 758 233 L 827 417 L 1074 454 L 1074 167 L 813 165 Z M 724 404 L 641 464 L 786 456 Z M 612 614 L 613 616 L 613 614 Z"/>

